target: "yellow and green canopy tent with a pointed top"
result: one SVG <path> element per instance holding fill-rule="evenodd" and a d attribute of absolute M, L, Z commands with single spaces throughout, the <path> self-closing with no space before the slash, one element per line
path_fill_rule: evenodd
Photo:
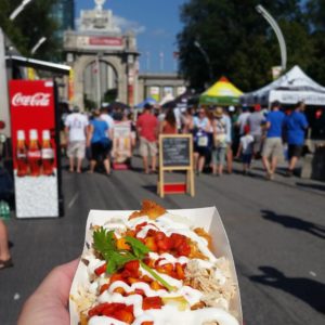
<path fill-rule="evenodd" d="M 199 96 L 199 104 L 204 105 L 238 105 L 243 92 L 225 77 L 220 78 L 213 86 Z"/>

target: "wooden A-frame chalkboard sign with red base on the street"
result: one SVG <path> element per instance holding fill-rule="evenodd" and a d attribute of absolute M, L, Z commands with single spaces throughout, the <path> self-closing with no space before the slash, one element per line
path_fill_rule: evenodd
<path fill-rule="evenodd" d="M 166 171 L 185 171 L 185 183 L 167 183 Z M 157 192 L 165 194 L 188 193 L 195 195 L 193 171 L 193 136 L 192 134 L 159 135 L 159 180 Z"/>

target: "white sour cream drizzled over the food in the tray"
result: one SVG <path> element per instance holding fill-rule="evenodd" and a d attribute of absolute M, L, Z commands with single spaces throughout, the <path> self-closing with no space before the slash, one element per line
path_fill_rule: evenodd
<path fill-rule="evenodd" d="M 167 236 L 170 236 L 172 233 L 178 233 L 181 235 L 184 235 L 188 238 L 191 238 L 193 242 L 195 242 L 198 246 L 198 249 L 208 258 L 207 261 L 195 259 L 202 268 L 205 269 L 211 269 L 217 258 L 212 255 L 212 252 L 208 248 L 208 243 L 205 238 L 198 236 L 195 232 L 193 232 L 190 229 L 190 224 L 183 224 L 173 222 L 170 218 L 168 218 L 168 213 L 157 218 L 155 221 L 148 219 L 147 217 L 140 217 L 136 219 L 131 219 L 127 222 L 123 222 L 121 220 L 121 223 L 115 222 L 114 226 L 112 225 L 104 225 L 106 229 L 118 229 L 118 232 L 120 232 L 125 224 L 128 229 L 135 229 L 138 224 L 141 224 L 143 222 L 147 222 L 151 224 L 147 224 L 142 227 L 142 230 L 138 233 L 138 237 L 144 238 L 147 234 L 147 232 L 152 229 L 157 231 L 164 232 Z M 156 252 L 150 252 L 150 258 L 153 260 L 161 259 L 158 264 L 164 265 L 166 263 L 187 263 L 190 261 L 186 257 L 179 257 L 176 258 L 170 253 L 162 253 L 158 255 Z M 89 264 L 87 268 L 88 274 L 93 276 L 94 270 L 103 264 L 103 261 L 95 259 L 95 258 L 89 258 Z M 152 277 L 152 275 L 145 271 L 143 268 L 140 266 L 140 271 L 143 275 L 147 275 Z M 155 271 L 157 272 L 157 271 Z M 158 272 L 157 272 L 158 273 Z M 102 292 L 101 296 L 98 298 L 99 303 L 103 302 L 121 302 L 126 303 L 127 306 L 132 304 L 133 306 L 133 313 L 135 321 L 132 323 L 132 325 L 141 325 L 142 322 L 151 321 L 154 322 L 155 325 L 180 325 L 180 324 L 186 324 L 186 325 L 198 325 L 203 324 L 205 322 L 214 321 L 218 322 L 219 325 L 238 325 L 237 320 L 232 316 L 226 311 L 220 309 L 220 308 L 205 308 L 199 310 L 191 310 L 190 307 L 199 302 L 203 294 L 199 290 L 196 290 L 190 286 L 183 286 L 182 281 L 178 281 L 167 274 L 158 273 L 165 281 L 167 281 L 171 286 L 176 287 L 177 290 L 169 292 L 166 289 L 160 290 L 153 290 L 148 284 L 144 282 L 138 282 L 129 286 L 122 281 L 116 281 L 114 282 L 107 290 Z M 222 274 L 221 271 L 216 271 L 216 277 L 220 283 L 225 282 L 225 277 Z M 92 283 L 89 287 L 90 291 L 95 291 L 102 284 L 107 283 L 107 280 L 105 278 L 105 275 L 100 276 Z M 185 311 L 179 311 L 176 306 L 172 304 L 166 304 L 162 306 L 161 309 L 153 309 L 153 310 L 143 310 L 142 309 L 142 301 L 143 298 L 141 295 L 131 295 L 128 297 L 123 297 L 122 295 L 118 292 L 114 292 L 116 288 L 122 288 L 126 292 L 132 292 L 135 289 L 141 289 L 144 291 L 146 297 L 156 297 L 159 296 L 161 298 L 164 297 L 184 297 L 184 299 L 187 301 L 188 307 Z M 89 320 L 89 325 L 125 325 L 126 323 L 120 322 L 118 320 L 107 317 L 107 316 L 93 316 Z"/>

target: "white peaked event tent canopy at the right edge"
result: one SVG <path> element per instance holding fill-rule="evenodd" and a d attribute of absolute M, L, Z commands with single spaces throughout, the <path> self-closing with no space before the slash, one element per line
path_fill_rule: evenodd
<path fill-rule="evenodd" d="M 325 105 L 325 88 L 308 77 L 298 65 L 265 87 L 245 93 L 242 104 L 269 105 L 278 101 L 284 105 L 303 101 L 307 105 Z"/>

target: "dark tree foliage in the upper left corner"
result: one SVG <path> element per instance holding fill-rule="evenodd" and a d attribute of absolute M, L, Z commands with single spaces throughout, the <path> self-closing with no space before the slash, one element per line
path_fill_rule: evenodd
<path fill-rule="evenodd" d="M 31 49 L 40 38 L 47 41 L 35 53 L 35 57 L 42 60 L 61 58 L 62 44 L 55 37 L 57 22 L 51 17 L 51 9 L 56 0 L 32 0 L 24 11 L 12 22 L 10 14 L 22 3 L 22 0 L 0 1 L 0 27 L 12 40 L 17 50 L 31 56 Z"/>

